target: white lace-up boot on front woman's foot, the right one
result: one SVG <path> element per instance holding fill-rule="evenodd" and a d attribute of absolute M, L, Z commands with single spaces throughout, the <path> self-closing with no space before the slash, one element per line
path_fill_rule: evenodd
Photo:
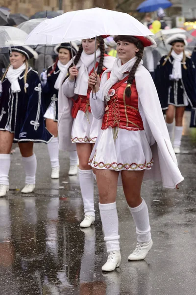
<path fill-rule="evenodd" d="M 147 253 L 152 248 L 152 240 L 147 243 L 137 242 L 137 246 L 133 253 L 131 253 L 128 257 L 128 260 L 143 260 L 146 258 Z"/>

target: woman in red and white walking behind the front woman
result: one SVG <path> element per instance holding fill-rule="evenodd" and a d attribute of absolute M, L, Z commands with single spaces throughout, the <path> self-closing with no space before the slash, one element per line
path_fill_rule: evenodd
<path fill-rule="evenodd" d="M 115 58 L 104 54 L 104 41 L 101 36 L 98 37 L 96 51 L 96 70 L 101 77 L 103 71 L 112 67 Z M 76 144 L 77 154 L 79 158 L 79 182 L 81 188 L 82 199 L 84 203 L 84 220 L 80 223 L 80 227 L 89 227 L 95 221 L 94 209 L 94 178 L 93 171 L 88 165 L 88 160 L 93 149 L 93 144 L 96 142 L 98 131 L 101 127 L 101 120 L 93 118 L 89 103 L 89 95 L 91 89 L 88 87 L 89 74 L 94 71 L 95 57 L 95 38 L 82 40 L 82 44 L 74 59 L 74 66 L 70 61 L 68 74 L 62 85 L 61 96 L 59 103 L 67 102 L 67 107 L 64 108 L 64 113 L 71 116 L 71 105 L 74 98 L 72 115 L 74 118 L 72 132 L 70 135 L 72 145 Z M 66 100 L 67 97 L 67 100 Z M 62 110 L 63 106 L 59 106 Z M 62 112 L 62 111 L 61 111 Z M 61 115 L 59 114 L 59 123 L 63 125 Z M 72 120 L 70 119 L 71 125 Z M 65 126 L 66 123 L 64 123 Z M 59 126 L 60 127 L 60 126 Z M 63 126 L 62 126 L 63 128 Z M 67 130 L 59 128 L 59 140 L 65 136 Z M 66 144 L 66 141 L 65 141 Z M 59 148 L 64 148 L 60 145 Z"/>

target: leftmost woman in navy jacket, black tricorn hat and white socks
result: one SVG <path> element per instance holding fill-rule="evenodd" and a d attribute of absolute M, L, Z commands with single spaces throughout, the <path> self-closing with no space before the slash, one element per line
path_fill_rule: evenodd
<path fill-rule="evenodd" d="M 18 143 L 25 168 L 22 193 L 35 188 L 36 156 L 33 142 L 48 143 L 52 135 L 45 128 L 41 103 L 41 84 L 28 60 L 37 53 L 28 46 L 13 46 L 10 65 L 2 77 L 0 104 L 0 197 L 9 190 L 10 150 Z"/>

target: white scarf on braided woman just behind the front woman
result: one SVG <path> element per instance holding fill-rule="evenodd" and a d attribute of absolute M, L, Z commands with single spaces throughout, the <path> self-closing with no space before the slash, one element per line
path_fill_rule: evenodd
<path fill-rule="evenodd" d="M 96 51 L 96 61 L 99 61 L 100 49 Z M 88 67 L 94 62 L 95 53 L 86 54 L 82 51 L 81 57 L 76 65 L 78 68 L 78 76 L 76 82 L 75 94 L 86 95 L 88 90 L 89 73 Z"/>

